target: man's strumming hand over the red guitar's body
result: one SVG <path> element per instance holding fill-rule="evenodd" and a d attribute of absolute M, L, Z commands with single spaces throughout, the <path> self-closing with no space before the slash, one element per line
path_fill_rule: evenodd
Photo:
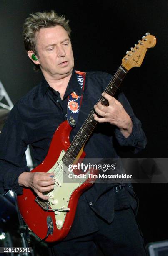
<path fill-rule="evenodd" d="M 47 200 L 48 196 L 43 192 L 48 192 L 54 188 L 54 173 L 48 172 L 23 172 L 19 175 L 18 183 L 20 186 L 30 187 L 42 199 Z"/>

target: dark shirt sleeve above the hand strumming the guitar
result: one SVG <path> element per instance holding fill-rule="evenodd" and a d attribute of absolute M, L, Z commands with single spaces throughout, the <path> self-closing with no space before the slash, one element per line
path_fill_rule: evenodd
<path fill-rule="evenodd" d="M 15 105 L 0 134 L 1 194 L 5 194 L 8 190 L 22 194 L 23 188 L 18 184 L 18 177 L 22 172 L 30 171 L 26 166 L 27 145 L 25 128 L 19 115 L 18 105 Z"/>

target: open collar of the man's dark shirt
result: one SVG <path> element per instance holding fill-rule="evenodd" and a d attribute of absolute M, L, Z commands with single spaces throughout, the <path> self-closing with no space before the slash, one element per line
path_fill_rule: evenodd
<path fill-rule="evenodd" d="M 50 85 L 48 84 L 48 82 L 45 80 L 45 77 L 43 76 L 43 79 L 42 79 L 42 93 L 43 93 L 43 96 L 45 95 L 45 93 L 47 92 L 49 87 L 50 87 Z M 65 95 L 64 95 L 63 99 L 65 99 L 72 92 L 76 92 L 77 95 L 82 95 L 83 94 L 83 90 L 81 89 L 81 87 L 79 85 L 78 77 L 77 77 L 77 74 L 75 72 L 75 69 L 73 69 L 73 72 L 72 72 L 72 75 L 71 75 L 70 80 L 68 82 L 68 86 L 66 88 Z"/>

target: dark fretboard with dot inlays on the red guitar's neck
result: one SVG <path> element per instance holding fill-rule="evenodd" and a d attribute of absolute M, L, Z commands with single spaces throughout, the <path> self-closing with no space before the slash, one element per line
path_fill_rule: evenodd
<path fill-rule="evenodd" d="M 121 65 L 117 70 L 117 72 L 115 73 L 115 75 L 113 76 L 113 78 L 111 79 L 111 81 L 109 82 L 104 92 L 108 93 L 113 97 L 118 87 L 120 86 L 121 82 L 123 81 L 125 75 L 127 74 L 127 72 L 128 71 L 125 69 L 125 67 Z M 102 96 L 100 97 L 98 102 L 99 101 L 105 106 L 109 105 L 108 100 L 105 100 L 105 98 L 103 98 Z M 68 150 L 65 152 L 65 155 L 63 156 L 63 159 L 62 159 L 64 164 L 66 165 L 73 164 L 81 148 L 84 146 L 90 134 L 93 132 L 97 124 L 97 121 L 95 121 L 93 118 L 94 113 L 95 113 L 95 110 L 92 109 L 90 114 L 88 115 L 88 118 L 85 120 L 82 127 L 80 128 L 75 138 L 71 142 Z"/>

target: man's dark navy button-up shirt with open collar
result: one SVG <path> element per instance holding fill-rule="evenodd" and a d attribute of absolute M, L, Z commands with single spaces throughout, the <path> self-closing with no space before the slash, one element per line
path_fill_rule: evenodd
<path fill-rule="evenodd" d="M 34 159 L 37 164 L 40 164 L 48 152 L 55 130 L 67 119 L 68 95 L 74 91 L 77 95 L 83 94 L 78 123 L 70 134 L 70 141 L 72 141 L 111 78 L 110 74 L 104 72 L 87 72 L 83 92 L 73 70 L 63 100 L 59 92 L 53 90 L 43 78 L 38 86 L 15 104 L 0 134 L 0 193 L 4 194 L 8 190 L 13 190 L 17 194 L 22 193 L 22 187 L 18 185 L 18 176 L 22 172 L 29 171 L 25 158 L 27 145 L 32 146 Z M 145 147 L 145 134 L 128 100 L 123 93 L 118 94 L 118 100 L 133 121 L 132 133 L 125 138 L 115 125 L 98 123 L 84 148 L 88 158 L 118 158 L 114 146 L 116 143 L 128 146 L 135 153 Z M 109 203 L 108 210 L 105 209 L 106 200 L 114 201 L 113 193 L 109 192 L 110 187 L 113 187 L 112 184 L 94 184 L 83 193 L 68 238 L 96 231 L 94 212 L 109 223 L 113 220 L 113 214 L 111 214 L 113 203 Z M 86 221 L 87 225 L 85 225 Z M 80 228 L 81 225 L 85 228 Z"/>

